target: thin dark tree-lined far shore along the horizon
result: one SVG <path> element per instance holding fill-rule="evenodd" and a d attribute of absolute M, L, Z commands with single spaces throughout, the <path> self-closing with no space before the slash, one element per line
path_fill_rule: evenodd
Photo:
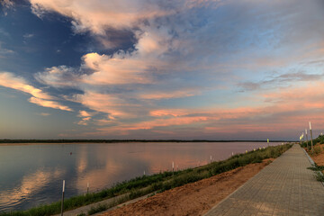
<path fill-rule="evenodd" d="M 266 140 L 208 140 L 208 139 L 0 139 L 0 146 L 12 144 L 59 144 L 59 143 L 123 143 L 123 142 L 266 142 Z M 270 140 L 270 142 L 294 142 Z"/>

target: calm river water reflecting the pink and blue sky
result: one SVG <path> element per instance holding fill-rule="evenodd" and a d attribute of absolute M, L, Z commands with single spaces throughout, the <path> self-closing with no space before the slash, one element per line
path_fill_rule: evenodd
<path fill-rule="evenodd" d="M 271 143 L 278 145 L 281 143 Z M 0 211 L 25 210 L 130 178 L 204 165 L 266 142 L 87 143 L 0 146 Z"/>

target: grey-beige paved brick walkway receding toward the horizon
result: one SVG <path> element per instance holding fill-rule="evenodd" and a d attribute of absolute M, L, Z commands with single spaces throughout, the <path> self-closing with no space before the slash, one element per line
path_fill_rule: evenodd
<path fill-rule="evenodd" d="M 324 186 L 310 166 L 293 145 L 205 215 L 324 215 Z"/>

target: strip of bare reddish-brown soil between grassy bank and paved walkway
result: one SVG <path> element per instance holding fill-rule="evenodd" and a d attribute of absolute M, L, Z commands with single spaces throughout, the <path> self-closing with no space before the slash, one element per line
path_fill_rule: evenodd
<path fill-rule="evenodd" d="M 256 175 L 273 159 L 157 193 L 114 211 L 100 215 L 202 215 Z"/>

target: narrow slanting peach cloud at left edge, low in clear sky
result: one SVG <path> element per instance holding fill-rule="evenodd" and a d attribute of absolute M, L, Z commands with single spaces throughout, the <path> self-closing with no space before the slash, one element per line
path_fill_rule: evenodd
<path fill-rule="evenodd" d="M 14 74 L 12 73 L 1 72 L 0 85 L 31 94 L 32 97 L 29 99 L 29 102 L 31 103 L 36 103 L 40 106 L 50 107 L 53 109 L 72 111 L 67 106 L 61 105 L 60 103 L 53 101 L 54 98 L 49 94 L 44 93 L 39 88 L 35 88 L 32 85 L 28 85 L 22 77 L 14 76 Z"/>

